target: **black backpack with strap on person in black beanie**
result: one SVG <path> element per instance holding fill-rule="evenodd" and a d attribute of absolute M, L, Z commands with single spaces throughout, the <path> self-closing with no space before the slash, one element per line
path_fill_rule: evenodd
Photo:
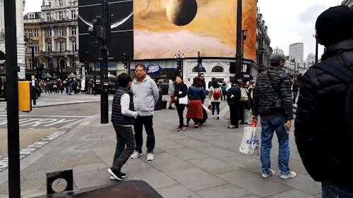
<path fill-rule="evenodd" d="M 343 58 L 338 56 L 338 61 L 342 66 L 333 67 L 330 64 L 319 63 L 314 66 L 325 72 L 333 75 L 333 77 L 342 81 L 347 86 L 347 93 L 345 96 L 345 121 L 347 124 L 348 134 L 353 139 L 353 64 L 347 63 Z"/>

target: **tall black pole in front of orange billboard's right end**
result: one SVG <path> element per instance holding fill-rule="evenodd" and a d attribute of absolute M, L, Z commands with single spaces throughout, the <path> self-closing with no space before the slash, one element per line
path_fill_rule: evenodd
<path fill-rule="evenodd" d="M 235 74 L 237 78 L 241 78 L 242 6 L 243 6 L 242 0 L 238 0 L 237 2 L 237 54 L 236 54 L 236 62 L 235 62 L 236 63 Z"/>

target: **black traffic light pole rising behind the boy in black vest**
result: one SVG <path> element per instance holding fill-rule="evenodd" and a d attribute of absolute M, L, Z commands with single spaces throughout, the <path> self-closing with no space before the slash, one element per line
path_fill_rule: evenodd
<path fill-rule="evenodd" d="M 104 28 L 105 30 L 110 30 L 110 28 L 107 27 L 108 24 L 108 13 L 106 6 L 107 4 L 105 3 L 105 0 L 101 1 L 101 16 L 103 18 L 103 23 L 104 23 Z M 100 48 L 100 54 L 102 56 L 102 60 L 100 63 L 100 85 L 101 85 L 101 94 L 100 94 L 100 123 L 106 124 L 109 123 L 109 113 L 108 113 L 108 87 L 104 85 L 104 83 L 109 83 L 108 79 L 108 49 L 105 44 L 106 40 L 102 39 L 102 47 Z M 109 85 L 108 85 L 109 86 Z"/>

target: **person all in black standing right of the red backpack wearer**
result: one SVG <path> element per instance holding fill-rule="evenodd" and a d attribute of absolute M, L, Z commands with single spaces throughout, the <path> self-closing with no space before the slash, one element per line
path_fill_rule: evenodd
<path fill-rule="evenodd" d="M 238 106 L 240 101 L 240 88 L 238 80 L 234 78 L 232 87 L 227 91 L 227 103 L 230 111 L 230 123 L 228 128 L 239 128 Z"/>

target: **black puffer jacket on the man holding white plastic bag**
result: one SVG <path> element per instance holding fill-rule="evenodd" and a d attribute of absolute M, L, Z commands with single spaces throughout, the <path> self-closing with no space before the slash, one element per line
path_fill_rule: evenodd
<path fill-rule="evenodd" d="M 280 97 L 282 107 L 276 107 Z M 290 78 L 280 67 L 270 66 L 260 73 L 253 89 L 253 115 L 266 116 L 273 113 L 285 115 L 287 120 L 293 119 L 292 91 Z"/>

